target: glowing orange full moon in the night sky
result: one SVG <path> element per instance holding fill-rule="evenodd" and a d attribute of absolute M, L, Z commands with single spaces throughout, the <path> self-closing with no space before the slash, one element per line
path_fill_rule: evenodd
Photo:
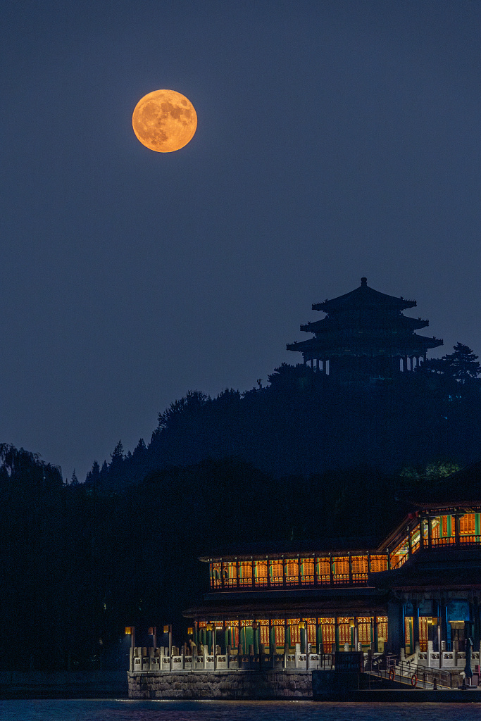
<path fill-rule="evenodd" d="M 172 153 L 192 140 L 197 113 L 175 90 L 154 90 L 141 98 L 132 115 L 133 132 L 142 145 L 157 153 Z"/>

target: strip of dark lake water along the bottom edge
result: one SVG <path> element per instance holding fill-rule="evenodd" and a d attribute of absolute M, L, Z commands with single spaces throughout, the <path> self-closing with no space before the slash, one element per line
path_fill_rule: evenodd
<path fill-rule="evenodd" d="M 478 704 L 337 704 L 312 701 L 0 701 L 1 721 L 473 721 Z"/>

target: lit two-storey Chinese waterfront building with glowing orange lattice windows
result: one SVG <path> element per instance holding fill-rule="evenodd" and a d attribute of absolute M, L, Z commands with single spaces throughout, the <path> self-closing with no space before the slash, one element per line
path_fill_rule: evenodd
<path fill-rule="evenodd" d="M 223 653 L 305 651 L 307 640 L 313 653 L 418 650 L 439 666 L 465 634 L 480 649 L 478 502 L 417 504 L 373 549 L 271 546 L 200 560 L 210 588 L 185 616 L 196 644 Z"/>

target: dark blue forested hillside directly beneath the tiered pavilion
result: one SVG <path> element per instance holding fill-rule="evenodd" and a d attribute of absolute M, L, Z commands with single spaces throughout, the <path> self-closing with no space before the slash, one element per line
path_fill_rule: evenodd
<path fill-rule="evenodd" d="M 439 459 L 464 466 L 481 458 L 477 367 L 462 375 L 440 359 L 396 382 L 347 386 L 283 364 L 263 388 L 216 398 L 191 391 L 159 413 L 149 446 L 141 440 L 125 455 L 119 442 L 110 464 L 96 461 L 87 482 L 126 485 L 154 470 L 228 456 L 276 477 L 362 463 L 387 473 Z"/>

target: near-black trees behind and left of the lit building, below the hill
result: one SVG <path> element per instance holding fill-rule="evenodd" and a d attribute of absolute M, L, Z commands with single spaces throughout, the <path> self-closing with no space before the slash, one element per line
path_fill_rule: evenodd
<path fill-rule="evenodd" d="M 208 583 L 198 555 L 302 539 L 378 544 L 411 510 L 412 492 L 453 469 L 276 479 L 223 459 L 114 490 L 64 485 L 57 469 L 12 446 L 0 446 L 0 461 L 0 668 L 35 670 L 120 668 L 125 626 L 148 645 L 149 626 L 172 623 L 182 642 L 182 610 Z"/>

